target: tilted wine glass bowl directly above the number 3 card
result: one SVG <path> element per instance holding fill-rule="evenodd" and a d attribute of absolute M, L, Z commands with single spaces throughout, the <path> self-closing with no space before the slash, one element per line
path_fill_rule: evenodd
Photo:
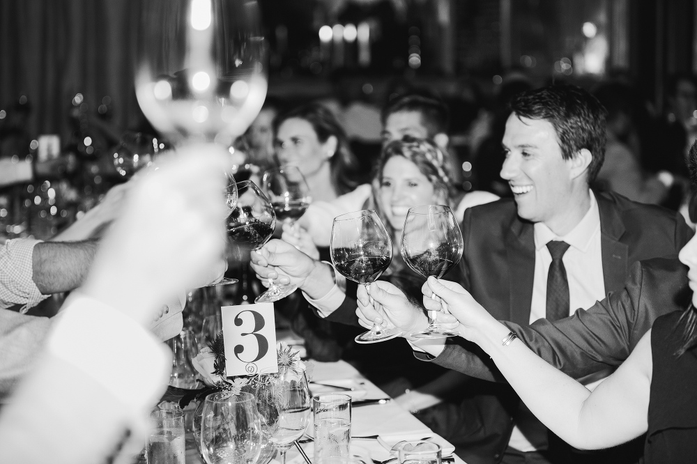
<path fill-rule="evenodd" d="M 248 261 L 250 251 L 261 248 L 273 235 L 276 215 L 251 180 L 238 183 L 237 188 L 237 205 L 227 217 L 229 252 L 236 261 Z"/>

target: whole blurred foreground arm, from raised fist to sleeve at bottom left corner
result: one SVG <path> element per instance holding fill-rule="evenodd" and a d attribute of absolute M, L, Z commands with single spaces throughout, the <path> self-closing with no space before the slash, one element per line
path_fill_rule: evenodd
<path fill-rule="evenodd" d="M 142 449 L 171 369 L 171 353 L 144 328 L 225 245 L 226 155 L 183 152 L 134 187 L 85 283 L 56 316 L 0 413 L 0 462 L 129 463 Z"/>

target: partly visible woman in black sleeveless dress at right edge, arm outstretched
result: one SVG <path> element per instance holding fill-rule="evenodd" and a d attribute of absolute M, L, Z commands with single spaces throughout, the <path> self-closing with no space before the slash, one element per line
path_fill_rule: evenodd
<path fill-rule="evenodd" d="M 682 248 L 680 261 L 697 270 L 697 238 Z M 695 288 L 694 274 L 688 278 Z M 461 336 L 493 359 L 521 400 L 562 440 L 578 449 L 605 449 L 645 433 L 644 463 L 697 460 L 697 293 L 681 311 L 654 320 L 627 360 L 590 391 L 535 356 L 459 284 L 431 277 L 424 302 L 431 291 L 457 316 Z M 663 303 L 673 307 L 670 300 Z"/>

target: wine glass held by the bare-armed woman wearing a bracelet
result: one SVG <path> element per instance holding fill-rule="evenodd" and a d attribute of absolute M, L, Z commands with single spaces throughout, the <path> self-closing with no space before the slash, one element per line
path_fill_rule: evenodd
<path fill-rule="evenodd" d="M 443 205 L 422 205 L 410 208 L 401 233 L 401 257 L 417 274 L 440 279 L 460 261 L 463 249 L 462 233 L 452 210 Z M 431 295 L 434 300 L 436 295 Z M 445 303 L 443 311 L 447 311 Z M 456 330 L 447 330 L 436 321 L 436 312 L 429 311 L 429 326 L 411 337 L 442 339 L 457 337 Z"/>

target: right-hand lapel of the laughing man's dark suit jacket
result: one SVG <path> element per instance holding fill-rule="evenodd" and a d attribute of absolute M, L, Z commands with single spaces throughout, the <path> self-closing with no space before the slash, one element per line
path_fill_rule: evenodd
<path fill-rule="evenodd" d="M 625 225 L 613 201 L 596 194 L 600 212 L 600 248 L 603 259 L 603 281 L 605 293 L 618 291 L 625 286 L 629 247 L 620 242 Z"/>

